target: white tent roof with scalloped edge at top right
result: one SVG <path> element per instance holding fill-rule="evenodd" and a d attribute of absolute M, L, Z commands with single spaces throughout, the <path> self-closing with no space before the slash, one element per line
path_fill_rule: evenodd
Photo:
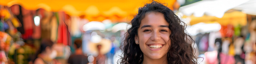
<path fill-rule="evenodd" d="M 202 17 L 204 14 L 222 18 L 230 9 L 256 15 L 256 0 L 202 0 L 190 5 L 182 6 L 179 11 L 187 16 Z"/>

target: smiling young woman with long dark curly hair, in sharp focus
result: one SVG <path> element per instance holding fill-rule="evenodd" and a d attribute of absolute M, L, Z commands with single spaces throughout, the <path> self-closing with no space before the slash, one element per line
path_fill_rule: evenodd
<path fill-rule="evenodd" d="M 118 63 L 197 64 L 186 24 L 165 5 L 153 1 L 140 7 L 131 24 Z"/>

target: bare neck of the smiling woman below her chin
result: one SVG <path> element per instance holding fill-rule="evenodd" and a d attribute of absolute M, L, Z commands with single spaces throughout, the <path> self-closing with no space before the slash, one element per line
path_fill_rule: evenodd
<path fill-rule="evenodd" d="M 162 58 L 152 59 L 147 57 L 145 54 L 143 55 L 143 64 L 167 64 L 167 54 L 165 54 Z"/>

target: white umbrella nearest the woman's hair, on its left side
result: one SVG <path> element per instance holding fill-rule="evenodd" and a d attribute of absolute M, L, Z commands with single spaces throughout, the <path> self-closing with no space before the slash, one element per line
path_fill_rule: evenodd
<path fill-rule="evenodd" d="M 118 24 L 116 24 L 116 25 L 114 25 L 113 27 L 112 27 L 112 32 L 113 33 L 115 33 L 115 32 L 117 32 L 117 31 L 119 31 L 119 30 L 127 30 L 127 29 L 129 29 L 131 27 L 131 25 L 130 24 L 127 24 L 127 23 L 124 23 L 124 22 L 122 22 L 122 23 L 118 23 Z"/>

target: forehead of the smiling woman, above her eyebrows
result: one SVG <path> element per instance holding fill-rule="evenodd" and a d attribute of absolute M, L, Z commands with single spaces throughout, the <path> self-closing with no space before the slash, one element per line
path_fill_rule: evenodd
<path fill-rule="evenodd" d="M 164 14 L 159 12 L 147 12 L 145 17 L 141 20 L 141 25 L 167 25 L 169 23 L 165 20 Z"/>

